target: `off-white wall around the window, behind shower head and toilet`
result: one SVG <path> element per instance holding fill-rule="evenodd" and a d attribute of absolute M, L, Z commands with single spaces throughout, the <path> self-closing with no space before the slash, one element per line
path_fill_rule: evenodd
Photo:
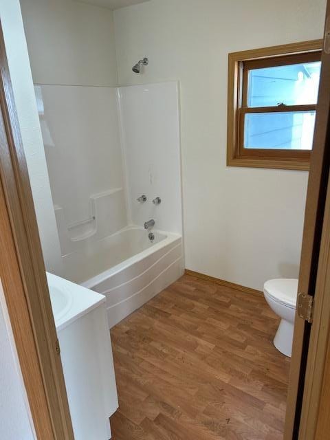
<path fill-rule="evenodd" d="M 179 80 L 186 267 L 297 276 L 307 173 L 225 165 L 228 52 L 322 36 L 325 0 L 151 0 L 114 12 L 120 85 Z M 131 68 L 143 56 L 144 74 Z"/>

